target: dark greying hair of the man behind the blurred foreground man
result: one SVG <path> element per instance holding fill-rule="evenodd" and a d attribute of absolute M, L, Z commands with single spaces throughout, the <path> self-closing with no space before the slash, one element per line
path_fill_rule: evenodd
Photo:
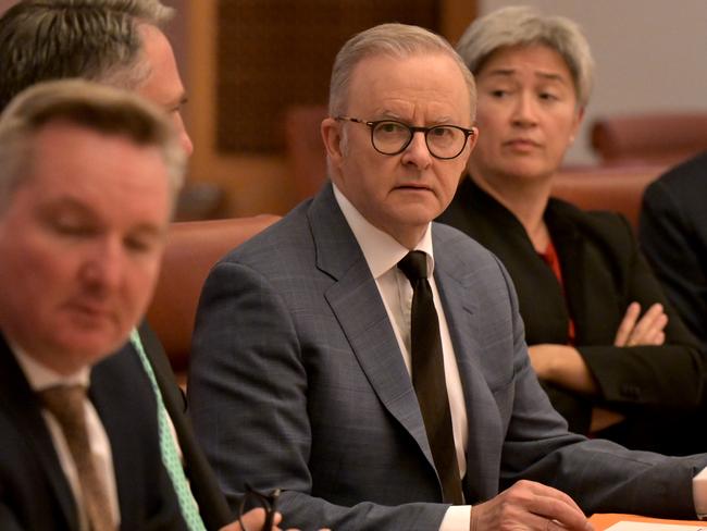
<path fill-rule="evenodd" d="M 26 87 L 83 77 L 137 88 L 150 70 L 140 24 L 163 27 L 159 0 L 22 0 L 0 17 L 0 111 Z"/>

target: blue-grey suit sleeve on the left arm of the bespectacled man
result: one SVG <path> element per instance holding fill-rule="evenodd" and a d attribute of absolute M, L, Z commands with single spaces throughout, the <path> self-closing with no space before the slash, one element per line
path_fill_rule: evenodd
<path fill-rule="evenodd" d="M 308 468 L 308 369 L 315 368 L 306 356 L 290 309 L 266 279 L 234 262 L 212 270 L 197 312 L 189 409 L 231 507 L 248 481 L 283 490 L 283 528 L 438 530 L 445 505 L 344 507 L 317 496 Z"/>

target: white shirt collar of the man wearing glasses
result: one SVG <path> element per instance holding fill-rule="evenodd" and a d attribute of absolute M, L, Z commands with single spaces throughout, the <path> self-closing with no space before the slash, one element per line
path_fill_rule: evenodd
<path fill-rule="evenodd" d="M 369 264 L 373 279 L 379 279 L 385 272 L 395 268 L 410 249 L 400 245 L 393 236 L 373 226 L 363 215 L 354 207 L 346 196 L 332 183 L 334 187 L 334 197 L 342 209 L 346 222 L 351 227 L 354 236 L 361 247 L 363 257 Z M 432 276 L 434 271 L 434 255 L 432 252 L 432 223 L 418 242 L 413 250 L 421 250 L 427 256 L 427 276 Z"/>

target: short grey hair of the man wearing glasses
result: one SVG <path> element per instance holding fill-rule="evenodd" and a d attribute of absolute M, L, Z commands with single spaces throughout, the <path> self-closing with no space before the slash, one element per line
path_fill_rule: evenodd
<path fill-rule="evenodd" d="M 407 58 L 420 53 L 443 53 L 459 66 L 469 88 L 471 123 L 476 114 L 476 85 L 474 78 L 443 37 L 427 29 L 406 24 L 381 24 L 351 37 L 336 54 L 328 90 L 328 113 L 337 116 L 347 112 L 348 90 L 354 69 L 365 58 L 387 55 Z"/>

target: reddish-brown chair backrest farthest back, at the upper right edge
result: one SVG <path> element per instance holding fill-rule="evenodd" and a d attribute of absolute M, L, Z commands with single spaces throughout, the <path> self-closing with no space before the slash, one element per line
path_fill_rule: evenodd
<path fill-rule="evenodd" d="M 675 164 L 707 149 L 707 112 L 600 119 L 592 147 L 604 163 Z"/>

